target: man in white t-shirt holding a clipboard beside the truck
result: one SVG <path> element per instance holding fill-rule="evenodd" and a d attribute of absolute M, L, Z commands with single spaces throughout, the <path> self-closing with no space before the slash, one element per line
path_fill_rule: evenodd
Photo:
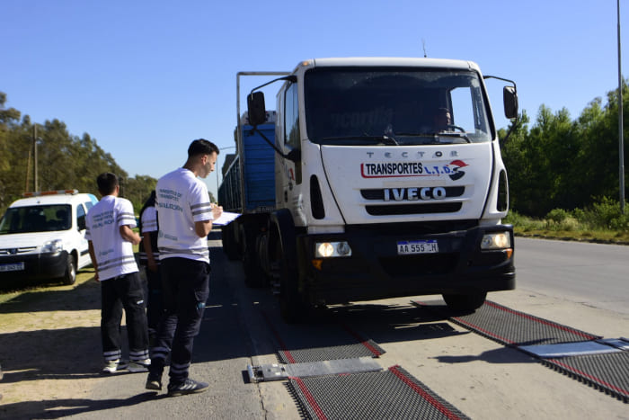
<path fill-rule="evenodd" d="M 162 389 L 162 374 L 171 354 L 168 395 L 202 392 L 208 383 L 191 380 L 194 337 L 209 295 L 208 234 L 223 212 L 209 202 L 208 187 L 197 177 L 214 171 L 218 147 L 197 139 L 188 147 L 183 167 L 165 174 L 155 188 L 164 314 L 151 349 L 146 389 Z"/>

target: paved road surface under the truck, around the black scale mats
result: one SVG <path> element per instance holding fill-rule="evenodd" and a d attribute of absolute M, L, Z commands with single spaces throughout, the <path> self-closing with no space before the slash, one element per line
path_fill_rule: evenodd
<path fill-rule="evenodd" d="M 277 362 L 281 348 L 347 344 L 352 331 L 385 349 L 376 359 L 384 369 L 402 366 L 472 418 L 629 418 L 625 403 L 447 318 L 427 317 L 410 298 L 337 306 L 288 326 L 270 290 L 245 288 L 240 264 L 219 245 L 210 241 L 212 290 L 190 370 L 209 382 L 207 392 L 165 398 L 144 389 L 144 374 L 115 375 L 44 417 L 299 418 L 286 383 L 249 383 L 247 365 Z M 629 335 L 629 247 L 523 238 L 516 246 L 517 290 L 489 299 L 607 338 Z"/>

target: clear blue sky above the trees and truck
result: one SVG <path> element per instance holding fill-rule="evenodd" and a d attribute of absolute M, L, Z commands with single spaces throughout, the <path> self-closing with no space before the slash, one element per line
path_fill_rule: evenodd
<path fill-rule="evenodd" d="M 629 4 L 620 18 L 628 48 Z M 234 146 L 238 71 L 421 57 L 425 45 L 431 58 L 473 60 L 515 80 L 533 120 L 542 104 L 576 119 L 618 84 L 616 28 L 616 0 L 2 0 L 0 91 L 31 121 L 64 121 L 128 174 L 158 178 L 183 164 L 192 139 Z M 501 85 L 490 83 L 500 117 Z M 216 192 L 215 174 L 207 183 Z"/>

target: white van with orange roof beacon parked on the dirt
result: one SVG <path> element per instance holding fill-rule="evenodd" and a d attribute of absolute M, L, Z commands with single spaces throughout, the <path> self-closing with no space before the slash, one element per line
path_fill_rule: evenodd
<path fill-rule="evenodd" d="M 63 279 L 92 264 L 85 215 L 98 199 L 77 190 L 26 192 L 0 220 L 0 283 Z"/>

